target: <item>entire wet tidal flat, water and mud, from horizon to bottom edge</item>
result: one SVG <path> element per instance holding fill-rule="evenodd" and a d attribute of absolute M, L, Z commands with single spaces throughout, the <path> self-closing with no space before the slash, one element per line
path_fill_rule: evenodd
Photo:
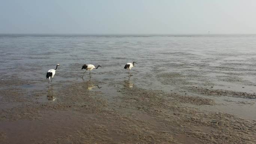
<path fill-rule="evenodd" d="M 1 36 L 0 143 L 254 144 L 255 38 Z"/>

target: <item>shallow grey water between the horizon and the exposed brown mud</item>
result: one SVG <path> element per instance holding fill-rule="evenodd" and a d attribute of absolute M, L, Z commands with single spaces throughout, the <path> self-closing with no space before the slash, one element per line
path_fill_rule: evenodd
<path fill-rule="evenodd" d="M 241 93 L 216 96 L 191 89 L 193 86 L 203 91 L 222 90 L 253 95 L 256 92 L 255 39 L 255 35 L 2 34 L 1 89 L 25 89 L 28 94 L 24 99 L 33 102 L 65 102 L 66 99 L 58 95 L 63 87 L 69 83 L 82 83 L 86 92 L 95 92 L 95 97 L 99 94 L 112 102 L 118 101 L 116 87 L 136 87 L 210 98 L 217 104 L 192 107 L 256 119 L 255 97 L 245 97 Z M 124 65 L 132 61 L 138 64 L 132 68 L 132 76 L 128 78 Z M 52 90 L 48 91 L 45 75 L 57 63 L 61 66 L 54 76 Z M 101 65 L 103 68 L 92 70 L 91 80 L 89 73 L 81 79 L 83 64 Z M 10 78 L 17 80 L 7 83 Z M 28 83 L 23 83 L 24 80 Z M 31 95 L 35 91 L 43 91 L 43 94 L 38 92 L 38 98 L 34 99 Z M 0 103 L 0 108 L 15 107 L 15 104 L 21 104 L 19 102 L 8 103 L 6 100 Z"/>

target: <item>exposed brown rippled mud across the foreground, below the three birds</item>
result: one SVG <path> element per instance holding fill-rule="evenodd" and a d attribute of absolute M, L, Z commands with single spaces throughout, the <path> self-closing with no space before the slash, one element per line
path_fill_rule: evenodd
<path fill-rule="evenodd" d="M 143 89 L 132 80 L 55 83 L 46 91 L 9 88 L 33 85 L 12 81 L 1 88 L 1 143 L 256 143 L 256 120 L 188 105 L 216 105 L 211 98 Z M 96 86 L 103 84 L 115 91 L 111 98 Z"/>

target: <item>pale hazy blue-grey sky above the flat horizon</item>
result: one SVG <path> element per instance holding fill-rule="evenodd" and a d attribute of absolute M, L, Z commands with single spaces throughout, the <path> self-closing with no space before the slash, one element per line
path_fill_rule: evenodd
<path fill-rule="evenodd" d="M 0 33 L 256 34 L 256 0 L 0 0 Z"/>

